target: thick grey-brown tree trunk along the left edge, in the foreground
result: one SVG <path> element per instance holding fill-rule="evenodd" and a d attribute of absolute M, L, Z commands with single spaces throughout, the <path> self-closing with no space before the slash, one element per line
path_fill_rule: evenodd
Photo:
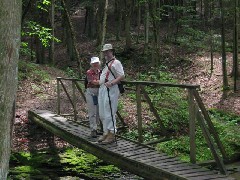
<path fill-rule="evenodd" d="M 0 179 L 6 180 L 11 152 L 20 48 L 21 0 L 0 1 Z"/>

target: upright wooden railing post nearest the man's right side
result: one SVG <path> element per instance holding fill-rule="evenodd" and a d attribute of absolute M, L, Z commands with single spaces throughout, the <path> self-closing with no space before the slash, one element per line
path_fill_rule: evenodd
<path fill-rule="evenodd" d="M 142 134 L 142 105 L 141 105 L 141 85 L 137 85 L 136 91 L 137 98 L 137 118 L 138 118 L 138 142 L 143 142 L 143 134 Z"/>

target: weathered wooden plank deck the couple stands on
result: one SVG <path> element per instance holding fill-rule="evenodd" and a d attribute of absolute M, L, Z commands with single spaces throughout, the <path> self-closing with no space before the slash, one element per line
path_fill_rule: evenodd
<path fill-rule="evenodd" d="M 117 138 L 117 144 L 101 145 L 96 138 L 89 136 L 89 128 L 50 111 L 29 111 L 28 116 L 33 122 L 70 144 L 146 179 L 234 179 L 120 137 Z"/>

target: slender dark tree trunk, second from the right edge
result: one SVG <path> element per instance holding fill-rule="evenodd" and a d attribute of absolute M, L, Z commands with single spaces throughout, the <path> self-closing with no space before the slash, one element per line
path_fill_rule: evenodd
<path fill-rule="evenodd" d="M 227 58 L 226 58 L 226 47 L 225 47 L 225 24 L 224 24 L 224 9 L 222 0 L 219 0 L 221 10 L 221 35 L 222 35 L 222 76 L 223 76 L 223 90 L 228 89 L 227 79 Z"/>

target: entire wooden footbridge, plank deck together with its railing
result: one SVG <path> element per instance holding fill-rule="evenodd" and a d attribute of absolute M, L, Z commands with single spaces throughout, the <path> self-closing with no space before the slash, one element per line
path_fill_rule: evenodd
<path fill-rule="evenodd" d="M 63 86 L 64 91 L 68 94 L 67 89 L 64 87 L 62 81 L 70 80 L 58 78 L 58 95 L 60 95 L 60 83 Z M 81 91 L 81 87 L 77 85 L 76 79 L 71 79 L 72 84 L 76 84 L 76 87 Z M 125 82 L 129 83 L 129 82 Z M 70 120 L 60 115 L 60 108 L 57 114 L 47 110 L 34 110 L 29 111 L 29 119 L 38 125 L 44 127 L 48 131 L 52 132 L 56 136 L 69 142 L 70 144 L 79 147 L 98 158 L 114 164 L 128 172 L 139 175 L 145 179 L 192 179 L 192 180 L 210 180 L 210 179 L 234 179 L 229 177 L 227 170 L 223 164 L 224 149 L 221 149 L 221 142 L 218 139 L 217 133 L 213 131 L 214 127 L 211 124 L 207 111 L 204 108 L 200 97 L 196 91 L 197 86 L 192 85 L 173 85 L 173 84 L 161 84 L 161 83 L 149 83 L 149 82 L 130 82 L 137 86 L 137 102 L 138 113 L 141 113 L 141 97 L 140 94 L 145 94 L 146 100 L 149 100 L 150 108 L 154 113 L 156 109 L 151 104 L 150 99 L 146 95 L 146 92 L 142 88 L 144 85 L 158 85 L 158 86 L 170 86 L 170 87 L 182 87 L 189 90 L 189 103 L 192 103 L 189 107 L 190 114 L 190 159 L 191 163 L 180 161 L 177 157 L 170 157 L 164 153 L 157 152 L 150 146 L 141 143 L 141 117 L 138 116 L 139 125 L 139 142 L 133 142 L 126 140 L 120 136 L 117 137 L 117 143 L 109 145 L 101 145 L 97 143 L 96 138 L 90 137 L 90 129 L 76 120 Z M 74 86 L 72 86 L 74 87 Z M 73 91 L 75 93 L 75 91 Z M 82 92 L 80 92 L 83 94 Z M 73 95 L 73 97 L 75 97 Z M 70 102 L 75 106 L 74 98 L 71 98 Z M 60 101 L 58 99 L 58 107 Z M 196 110 L 200 109 L 200 110 Z M 201 113 L 200 113 L 201 112 Z M 74 113 L 76 110 L 74 109 Z M 155 114 L 157 116 L 157 114 Z M 76 117 L 76 114 L 74 115 Z M 159 117 L 158 117 L 159 118 Z M 213 157 L 219 167 L 221 174 L 217 171 L 211 171 L 207 168 L 201 167 L 196 164 L 196 147 L 195 147 L 195 119 L 198 120 L 204 137 L 212 151 Z M 206 120 L 207 119 L 207 120 Z M 164 132 L 164 131 L 163 131 Z M 213 142 L 213 139 L 215 142 Z M 222 157 L 219 155 L 222 153 Z"/>

